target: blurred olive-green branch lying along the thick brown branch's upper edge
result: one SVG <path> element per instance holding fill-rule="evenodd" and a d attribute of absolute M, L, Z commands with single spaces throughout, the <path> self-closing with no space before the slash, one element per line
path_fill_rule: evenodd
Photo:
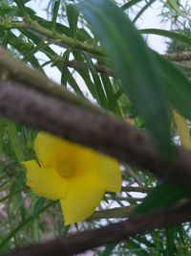
<path fill-rule="evenodd" d="M 32 87 L 65 102 L 69 102 L 70 104 L 84 107 L 102 115 L 106 114 L 100 107 L 90 104 L 85 99 L 80 99 L 64 87 L 46 78 L 37 70 L 32 70 L 32 68 L 26 66 L 21 60 L 12 58 L 7 51 L 1 48 L 0 78 L 4 81 L 18 81 L 24 86 Z"/>

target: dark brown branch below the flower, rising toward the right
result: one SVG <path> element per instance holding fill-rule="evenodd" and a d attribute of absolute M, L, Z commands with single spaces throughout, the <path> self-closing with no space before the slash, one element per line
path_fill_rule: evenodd
<path fill-rule="evenodd" d="M 157 220 L 157 221 L 156 221 Z M 156 228 L 163 228 L 191 220 L 190 201 L 182 202 L 129 221 L 111 224 L 94 231 L 81 232 L 67 238 L 56 239 L 45 244 L 31 245 L 12 251 L 7 256 L 64 256 L 83 252 L 104 244 L 116 243 L 132 236 L 144 234 Z"/>

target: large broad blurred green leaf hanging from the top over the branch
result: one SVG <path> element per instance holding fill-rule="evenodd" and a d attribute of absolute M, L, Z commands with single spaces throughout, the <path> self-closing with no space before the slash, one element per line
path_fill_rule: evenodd
<path fill-rule="evenodd" d="M 123 91 L 144 118 L 160 151 L 169 153 L 169 121 L 158 66 L 138 31 L 112 1 L 85 0 L 78 8 L 115 64 Z"/>

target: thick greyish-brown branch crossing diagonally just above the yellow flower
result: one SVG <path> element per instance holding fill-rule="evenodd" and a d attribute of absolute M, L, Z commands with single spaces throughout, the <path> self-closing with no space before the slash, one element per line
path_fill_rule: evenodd
<path fill-rule="evenodd" d="M 190 151 L 174 148 L 176 157 L 170 162 L 159 155 L 146 132 L 112 115 L 90 112 L 31 88 L 3 82 L 0 82 L 0 114 L 190 187 Z"/>

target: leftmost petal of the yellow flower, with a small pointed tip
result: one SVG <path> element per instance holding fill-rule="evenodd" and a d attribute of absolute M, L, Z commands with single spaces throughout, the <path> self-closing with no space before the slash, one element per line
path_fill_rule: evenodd
<path fill-rule="evenodd" d="M 22 162 L 27 169 L 27 184 L 39 196 L 48 199 L 65 198 L 67 179 L 61 178 L 53 168 L 41 168 L 35 160 Z"/>

